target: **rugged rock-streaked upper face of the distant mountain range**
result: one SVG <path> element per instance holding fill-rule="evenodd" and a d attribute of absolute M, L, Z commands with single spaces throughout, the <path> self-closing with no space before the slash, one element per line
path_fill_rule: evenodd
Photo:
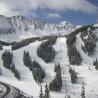
<path fill-rule="evenodd" d="M 20 33 L 27 31 L 48 31 L 50 32 L 64 32 L 72 30 L 75 27 L 64 21 L 59 24 L 48 24 L 38 19 L 27 18 L 24 16 L 5 17 L 0 16 L 0 34 Z"/>

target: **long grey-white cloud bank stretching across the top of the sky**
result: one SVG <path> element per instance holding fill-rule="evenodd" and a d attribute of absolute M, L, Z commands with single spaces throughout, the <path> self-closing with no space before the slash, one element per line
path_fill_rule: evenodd
<path fill-rule="evenodd" d="M 89 14 L 95 14 L 98 10 L 98 6 L 87 0 L 0 0 L 0 14 L 4 15 L 28 14 L 38 8 L 57 11 L 73 10 Z"/>

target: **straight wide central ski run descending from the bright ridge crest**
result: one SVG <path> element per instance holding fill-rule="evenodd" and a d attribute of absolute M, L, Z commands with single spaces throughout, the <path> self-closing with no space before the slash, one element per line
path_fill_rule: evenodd
<path fill-rule="evenodd" d="M 57 52 L 55 62 L 61 66 L 62 74 L 62 92 L 70 91 L 71 79 L 69 73 L 69 57 L 67 55 L 67 44 L 66 38 L 58 38 L 56 45 L 54 46 L 55 51 Z"/>

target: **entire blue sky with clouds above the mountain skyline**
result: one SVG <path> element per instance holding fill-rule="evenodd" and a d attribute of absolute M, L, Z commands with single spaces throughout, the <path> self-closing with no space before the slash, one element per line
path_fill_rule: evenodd
<path fill-rule="evenodd" d="M 0 15 L 23 15 L 48 23 L 98 23 L 98 0 L 0 0 Z"/>

